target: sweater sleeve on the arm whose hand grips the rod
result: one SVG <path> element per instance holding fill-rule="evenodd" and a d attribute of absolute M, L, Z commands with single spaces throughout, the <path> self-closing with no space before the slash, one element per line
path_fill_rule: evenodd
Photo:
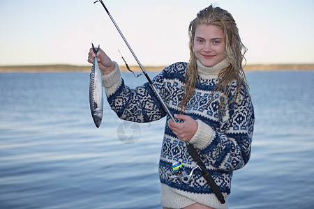
<path fill-rule="evenodd" d="M 213 128 L 197 120 L 197 131 L 190 139 L 190 144 L 200 150 L 209 164 L 223 171 L 241 169 L 251 157 L 255 116 L 251 98 L 245 92 L 239 96 L 239 103 L 221 118 L 220 127 Z"/>

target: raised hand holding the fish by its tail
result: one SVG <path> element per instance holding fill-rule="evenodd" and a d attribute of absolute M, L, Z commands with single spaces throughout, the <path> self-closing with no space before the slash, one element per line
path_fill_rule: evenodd
<path fill-rule="evenodd" d="M 95 56 L 96 54 L 93 52 L 93 48 L 89 49 L 89 58 L 87 59 L 87 61 L 89 63 L 93 63 Z M 112 70 L 114 70 L 114 63 L 112 63 L 110 57 L 107 56 L 107 54 L 105 54 L 102 49 L 99 49 L 99 51 L 97 52 L 97 61 L 100 73 L 102 75 L 109 74 L 110 72 L 112 72 Z"/>

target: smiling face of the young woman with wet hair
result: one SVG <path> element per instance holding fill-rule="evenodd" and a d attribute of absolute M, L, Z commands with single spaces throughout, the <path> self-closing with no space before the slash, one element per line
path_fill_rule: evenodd
<path fill-rule="evenodd" d="M 196 27 L 194 52 L 202 65 L 211 67 L 223 61 L 225 40 L 220 26 L 200 24 Z"/>

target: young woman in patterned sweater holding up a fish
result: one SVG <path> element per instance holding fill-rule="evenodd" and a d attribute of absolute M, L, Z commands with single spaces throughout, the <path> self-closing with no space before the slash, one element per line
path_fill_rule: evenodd
<path fill-rule="evenodd" d="M 147 83 L 135 89 L 124 84 L 117 63 L 100 50 L 107 100 L 117 115 L 128 121 L 146 123 L 167 116 L 159 176 L 164 208 L 227 208 L 218 201 L 202 173 L 195 169 L 188 184 L 174 173 L 181 162 L 189 173 L 195 166 L 186 148 L 193 144 L 214 178 L 225 200 L 230 194 L 232 171 L 241 169 L 251 156 L 254 111 L 242 61 L 246 47 L 230 13 L 209 6 L 190 22 L 190 60 L 174 63 L 153 82 L 169 107 L 175 123 Z M 89 63 L 94 52 L 89 52 Z"/>

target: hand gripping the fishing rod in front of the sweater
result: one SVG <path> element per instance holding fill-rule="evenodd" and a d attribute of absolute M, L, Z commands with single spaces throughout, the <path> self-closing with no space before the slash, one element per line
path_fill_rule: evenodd
<path fill-rule="evenodd" d="M 184 123 L 170 121 L 170 129 L 182 141 L 190 141 L 197 130 L 197 121 L 190 116 L 174 115 L 174 118 L 184 120 Z"/>

